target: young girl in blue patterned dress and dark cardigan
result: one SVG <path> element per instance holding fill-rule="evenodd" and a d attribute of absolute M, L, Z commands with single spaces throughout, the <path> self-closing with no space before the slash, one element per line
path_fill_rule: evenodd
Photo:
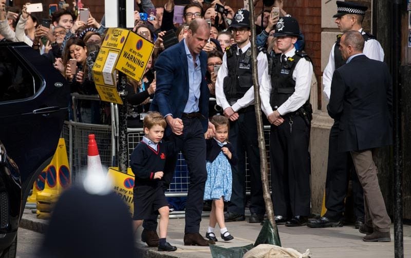
<path fill-rule="evenodd" d="M 204 200 L 213 200 L 210 225 L 206 237 L 217 241 L 214 227 L 218 222 L 221 238 L 230 241 L 234 237 L 228 232 L 224 223 L 224 201 L 231 198 L 232 174 L 231 165 L 237 163 L 233 146 L 227 141 L 230 123 L 224 116 L 213 116 L 211 122 L 215 126 L 214 139 L 207 140 L 207 181 Z"/>

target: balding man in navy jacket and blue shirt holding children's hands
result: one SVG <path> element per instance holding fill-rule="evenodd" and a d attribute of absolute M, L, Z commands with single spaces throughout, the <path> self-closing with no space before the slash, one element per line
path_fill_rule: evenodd
<path fill-rule="evenodd" d="M 162 52 L 155 64 L 157 89 L 151 109 L 165 117 L 166 138 L 176 145 L 175 155 L 167 157 L 164 179 L 170 182 L 173 178 L 180 150 L 189 168 L 184 245 L 214 244 L 199 234 L 207 179 L 204 133 L 208 127 L 210 131 L 215 130 L 208 121 L 210 90 L 206 82 L 207 54 L 202 51 L 209 36 L 207 22 L 193 20 L 186 38 Z"/>

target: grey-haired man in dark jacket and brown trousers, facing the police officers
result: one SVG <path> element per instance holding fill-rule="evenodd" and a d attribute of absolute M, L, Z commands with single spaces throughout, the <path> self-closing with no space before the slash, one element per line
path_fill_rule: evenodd
<path fill-rule="evenodd" d="M 393 143 L 392 83 L 387 65 L 367 58 L 363 48 L 360 32 L 344 33 L 340 50 L 347 62 L 333 73 L 327 110 L 340 123 L 338 151 L 350 153 L 364 190 L 363 241 L 389 242 L 391 220 L 372 158 L 378 147 Z"/>

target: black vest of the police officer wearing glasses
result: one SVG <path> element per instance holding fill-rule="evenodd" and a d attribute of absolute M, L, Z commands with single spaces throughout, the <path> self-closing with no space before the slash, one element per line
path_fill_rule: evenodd
<path fill-rule="evenodd" d="M 223 80 L 223 90 L 230 105 L 242 98 L 253 86 L 251 48 L 237 56 L 237 44 L 226 49 L 228 75 Z"/>

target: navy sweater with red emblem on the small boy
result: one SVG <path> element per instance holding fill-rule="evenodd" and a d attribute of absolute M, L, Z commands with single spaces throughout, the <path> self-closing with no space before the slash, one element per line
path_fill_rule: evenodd
<path fill-rule="evenodd" d="M 159 142 L 157 150 L 141 141 L 130 157 L 130 166 L 135 175 L 135 185 L 155 186 L 159 179 L 154 179 L 154 173 L 164 172 L 165 158 L 171 153 L 170 144 Z"/>

